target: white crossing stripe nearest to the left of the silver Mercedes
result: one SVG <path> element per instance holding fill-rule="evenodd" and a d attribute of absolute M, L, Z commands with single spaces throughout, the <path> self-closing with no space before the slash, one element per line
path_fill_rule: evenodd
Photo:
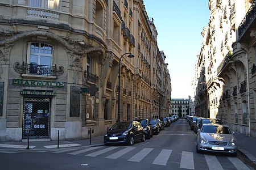
<path fill-rule="evenodd" d="M 180 168 L 195 169 L 193 152 L 182 151 Z"/>

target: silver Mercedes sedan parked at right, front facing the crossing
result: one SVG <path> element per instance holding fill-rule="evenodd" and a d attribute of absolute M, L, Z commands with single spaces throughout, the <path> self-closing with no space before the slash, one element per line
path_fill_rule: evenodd
<path fill-rule="evenodd" d="M 197 132 L 196 152 L 222 152 L 237 155 L 237 143 L 234 131 L 228 126 L 204 124 Z"/>

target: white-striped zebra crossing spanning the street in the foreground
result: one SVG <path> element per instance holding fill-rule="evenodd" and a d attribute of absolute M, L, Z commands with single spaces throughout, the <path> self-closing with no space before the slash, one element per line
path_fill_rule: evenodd
<path fill-rule="evenodd" d="M 150 154 L 154 152 L 154 150 L 158 150 L 156 148 L 150 148 L 150 147 L 144 147 L 144 148 L 138 148 L 138 147 L 119 147 L 119 146 L 97 146 L 97 147 L 83 147 L 83 148 L 69 148 L 69 149 L 63 149 L 63 150 L 47 150 L 47 152 L 52 152 L 55 154 L 69 154 L 69 155 L 82 155 L 82 156 L 88 156 L 95 158 L 100 155 L 104 155 L 104 158 L 106 159 L 121 159 L 123 157 L 127 158 L 127 155 L 129 155 L 129 159 L 127 159 L 128 162 L 136 162 L 140 163 L 143 161 L 143 159 L 146 159 L 147 156 L 153 156 L 154 160 L 152 164 L 155 165 L 163 165 L 166 166 L 168 162 L 172 160 L 173 151 L 171 149 L 162 149 L 160 152 L 158 151 L 158 155 Z M 43 151 L 36 151 L 36 152 L 43 152 Z M 131 153 L 132 152 L 132 153 Z M 1 153 L 1 150 L 0 150 Z M 12 154 L 15 152 L 11 151 L 3 151 L 3 153 L 6 154 Z M 126 156 L 125 156 L 126 155 Z M 123 157 L 122 157 L 123 156 Z M 196 159 L 204 159 L 205 162 L 208 165 L 209 170 L 216 170 L 216 169 L 225 169 L 222 164 L 230 163 L 233 167 L 235 167 L 238 170 L 250 170 L 249 167 L 247 167 L 246 164 L 244 164 L 240 159 L 236 157 L 223 157 L 222 159 L 225 159 L 225 161 L 218 159 L 218 156 L 212 155 L 212 154 L 200 154 L 200 156 L 196 156 L 196 153 L 189 152 L 189 151 L 182 151 L 181 152 L 181 159 L 180 163 L 176 163 L 179 165 L 179 168 L 182 169 L 196 169 L 195 163 L 197 162 Z"/>

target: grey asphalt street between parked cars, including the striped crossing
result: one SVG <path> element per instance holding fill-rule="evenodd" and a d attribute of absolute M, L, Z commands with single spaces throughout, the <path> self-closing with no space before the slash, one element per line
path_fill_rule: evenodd
<path fill-rule="evenodd" d="M 133 146 L 0 150 L 1 169 L 254 169 L 240 156 L 197 154 L 196 134 L 185 119 Z"/>

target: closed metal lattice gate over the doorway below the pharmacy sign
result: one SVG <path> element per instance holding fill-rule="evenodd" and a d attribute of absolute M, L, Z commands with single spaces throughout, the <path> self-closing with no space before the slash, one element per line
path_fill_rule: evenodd
<path fill-rule="evenodd" d="M 50 108 L 51 99 L 24 98 L 23 138 L 49 138 Z"/>

